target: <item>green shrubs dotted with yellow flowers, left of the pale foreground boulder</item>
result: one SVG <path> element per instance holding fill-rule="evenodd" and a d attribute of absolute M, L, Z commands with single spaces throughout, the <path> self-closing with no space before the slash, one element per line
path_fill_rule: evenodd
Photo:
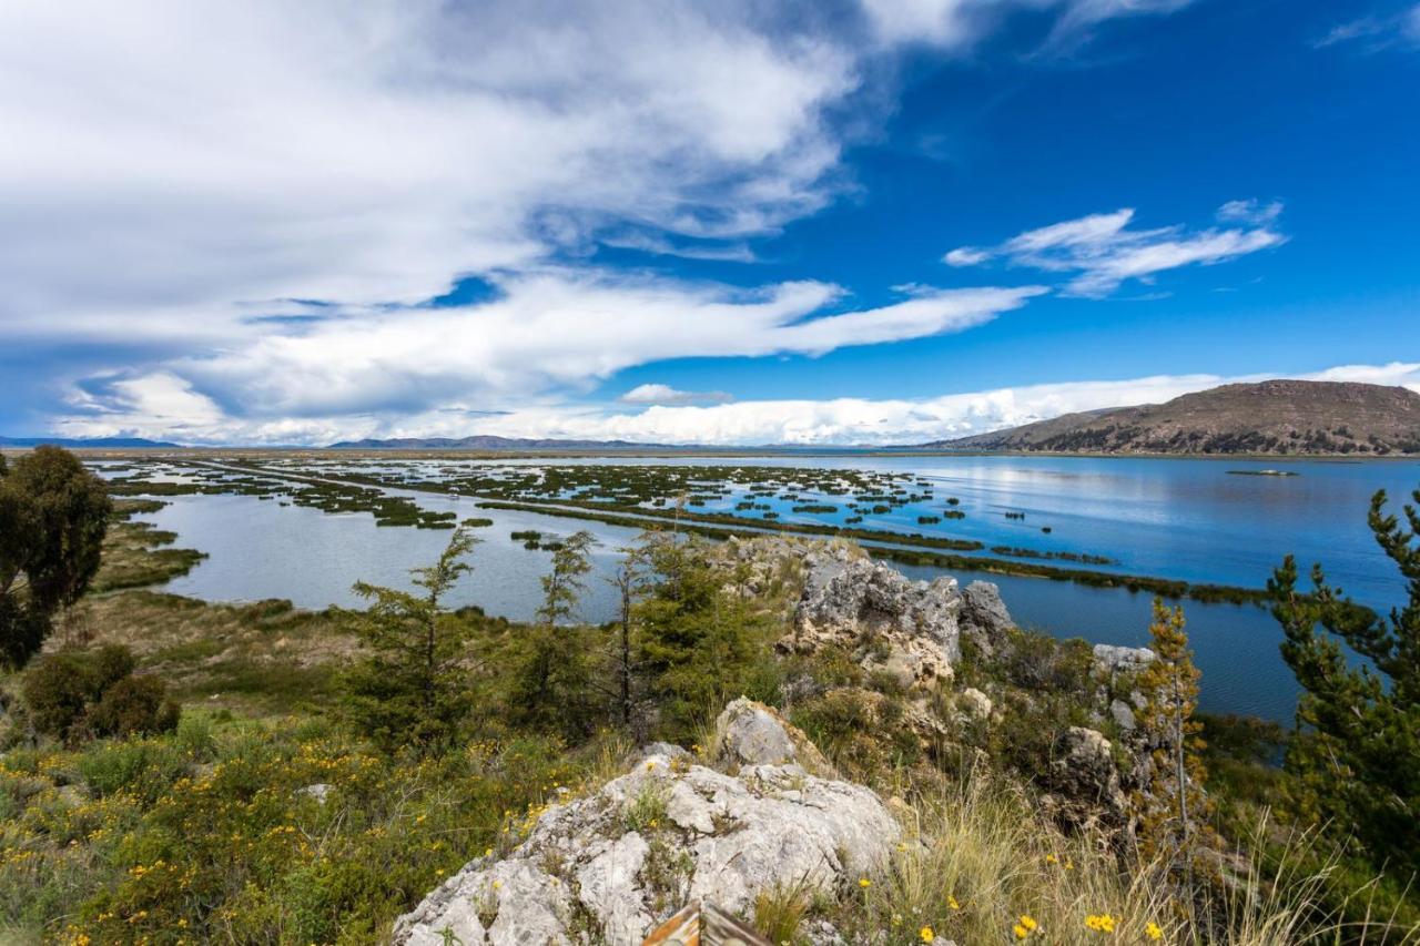
<path fill-rule="evenodd" d="M 190 720 L 4 757 L 6 929 L 24 942 L 379 942 L 440 879 L 521 841 L 585 771 L 555 740 L 389 757 L 312 720 L 197 724 L 196 740 Z"/>

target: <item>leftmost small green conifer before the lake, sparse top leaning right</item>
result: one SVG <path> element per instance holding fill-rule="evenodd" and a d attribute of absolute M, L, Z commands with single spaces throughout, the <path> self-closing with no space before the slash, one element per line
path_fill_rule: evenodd
<path fill-rule="evenodd" d="M 366 655 L 344 675 L 345 707 L 355 726 L 386 749 L 446 746 L 473 707 L 473 626 L 450 614 L 443 598 L 471 571 L 463 560 L 477 541 L 469 530 L 456 530 L 437 562 L 412 570 L 422 594 L 355 585 L 372 604 L 355 621 Z"/>

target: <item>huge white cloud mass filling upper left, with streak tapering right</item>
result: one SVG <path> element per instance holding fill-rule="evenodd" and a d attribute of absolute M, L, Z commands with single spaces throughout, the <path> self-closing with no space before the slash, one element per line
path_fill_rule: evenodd
<path fill-rule="evenodd" d="M 659 358 L 814 355 L 1018 307 L 1037 290 L 838 311 L 821 281 L 594 268 L 602 244 L 751 261 L 851 185 L 843 151 L 893 74 L 878 58 L 913 40 L 875 26 L 883 4 L 836 1 L 14 0 L 0 345 L 84 348 L 72 423 L 152 408 L 317 439 L 345 412 L 501 409 Z M 429 304 L 470 277 L 496 298 Z"/>

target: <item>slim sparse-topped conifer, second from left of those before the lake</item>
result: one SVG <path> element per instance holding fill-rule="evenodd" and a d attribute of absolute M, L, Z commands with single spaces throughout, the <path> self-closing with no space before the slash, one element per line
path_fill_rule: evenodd
<path fill-rule="evenodd" d="M 552 567 L 542 577 L 538 624 L 524 639 L 517 659 L 511 695 L 515 720 L 561 732 L 571 740 L 591 733 L 592 666 L 586 629 L 574 624 L 577 602 L 592 570 L 596 538 L 574 533 L 552 551 Z"/>

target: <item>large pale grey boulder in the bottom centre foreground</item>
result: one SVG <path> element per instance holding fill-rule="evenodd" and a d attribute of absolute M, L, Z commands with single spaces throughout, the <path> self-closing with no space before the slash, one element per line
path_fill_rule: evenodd
<path fill-rule="evenodd" d="M 897 822 L 870 790 L 808 773 L 802 733 L 748 700 L 719 729 L 737 774 L 655 746 L 544 812 L 506 858 L 466 865 L 399 918 L 395 942 L 639 943 L 694 899 L 740 913 L 778 884 L 832 892 L 885 862 Z"/>

